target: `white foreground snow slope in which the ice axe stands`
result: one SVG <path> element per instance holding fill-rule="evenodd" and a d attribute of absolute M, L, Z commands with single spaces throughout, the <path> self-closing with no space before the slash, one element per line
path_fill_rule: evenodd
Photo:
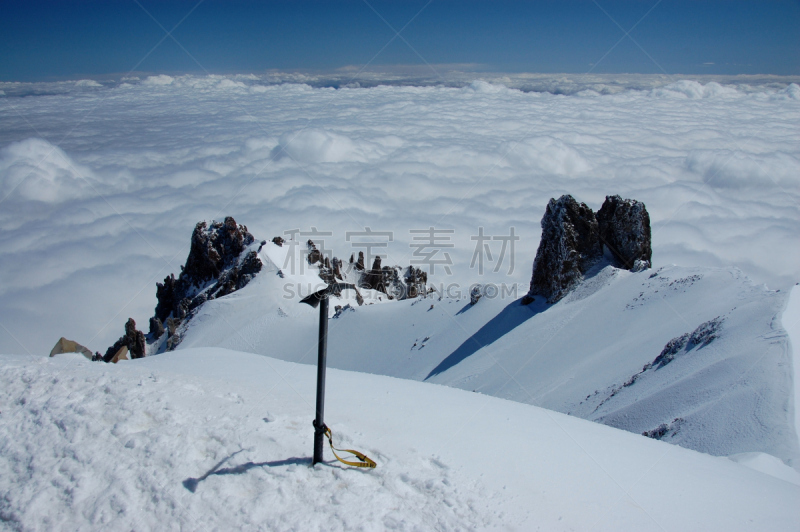
<path fill-rule="evenodd" d="M 376 459 L 365 471 L 308 467 L 308 365 L 223 349 L 0 364 L 3 529 L 760 531 L 800 520 L 793 483 L 448 387 L 329 372 L 326 421 L 337 443 Z"/>

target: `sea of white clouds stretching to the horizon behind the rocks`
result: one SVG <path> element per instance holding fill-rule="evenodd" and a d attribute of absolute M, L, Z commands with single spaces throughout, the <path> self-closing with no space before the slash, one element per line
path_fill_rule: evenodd
<path fill-rule="evenodd" d="M 0 352 L 60 336 L 104 351 L 128 317 L 146 329 L 195 223 L 227 215 L 267 240 L 329 231 L 312 238 L 343 258 L 363 249 L 348 232 L 391 232 L 384 264 L 420 259 L 411 230 L 452 231 L 432 282 L 524 291 L 547 201 L 620 194 L 647 205 L 655 266 L 800 281 L 792 80 L 487 79 L 0 83 Z M 471 267 L 480 227 L 514 228 L 512 271 L 509 250 L 494 271 L 501 240 Z"/>

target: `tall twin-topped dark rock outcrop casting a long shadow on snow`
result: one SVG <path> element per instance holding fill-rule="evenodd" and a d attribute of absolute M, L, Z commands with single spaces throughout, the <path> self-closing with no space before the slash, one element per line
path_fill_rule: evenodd
<path fill-rule="evenodd" d="M 531 287 L 523 304 L 537 295 L 548 303 L 559 301 L 603 256 L 604 246 L 616 266 L 637 271 L 650 267 L 650 216 L 639 201 L 606 196 L 595 215 L 585 203 L 564 195 L 550 200 L 541 225 Z"/>

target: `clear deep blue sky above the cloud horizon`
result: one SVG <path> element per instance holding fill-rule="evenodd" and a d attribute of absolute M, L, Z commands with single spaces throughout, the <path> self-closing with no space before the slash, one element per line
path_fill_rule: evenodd
<path fill-rule="evenodd" d="M 797 75 L 800 1 L 0 0 L 3 81 L 426 63 Z"/>

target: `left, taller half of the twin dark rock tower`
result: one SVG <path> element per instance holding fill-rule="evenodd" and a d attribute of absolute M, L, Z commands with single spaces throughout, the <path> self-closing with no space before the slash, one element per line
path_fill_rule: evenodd
<path fill-rule="evenodd" d="M 583 274 L 602 256 L 599 227 L 592 209 L 570 195 L 550 200 L 541 225 L 528 294 L 555 303 L 583 280 Z"/>

